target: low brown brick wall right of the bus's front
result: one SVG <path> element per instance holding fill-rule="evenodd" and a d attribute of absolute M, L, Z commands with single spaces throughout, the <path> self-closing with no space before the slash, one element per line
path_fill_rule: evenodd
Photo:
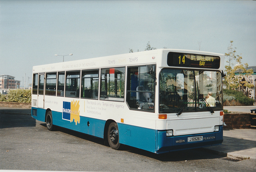
<path fill-rule="evenodd" d="M 224 129 L 250 129 L 250 113 L 225 113 L 223 121 L 227 126 Z"/>

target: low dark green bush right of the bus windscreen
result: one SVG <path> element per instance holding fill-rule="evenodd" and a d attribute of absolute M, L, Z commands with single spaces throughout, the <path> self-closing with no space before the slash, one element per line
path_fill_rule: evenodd
<path fill-rule="evenodd" d="M 224 89 L 223 90 L 223 100 L 226 101 L 232 97 L 234 97 L 234 99 L 232 100 L 236 100 L 242 104 L 245 104 L 247 106 L 251 106 L 254 103 L 254 100 L 251 98 L 246 97 L 242 92 L 236 91 L 236 90 L 228 90 L 228 89 Z M 228 100 L 230 101 L 230 100 Z"/>

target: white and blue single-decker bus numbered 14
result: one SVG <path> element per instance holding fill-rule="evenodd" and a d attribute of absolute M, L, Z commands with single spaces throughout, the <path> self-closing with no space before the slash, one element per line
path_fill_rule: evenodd
<path fill-rule="evenodd" d="M 32 117 L 161 154 L 223 141 L 224 55 L 156 49 L 33 67 Z"/>

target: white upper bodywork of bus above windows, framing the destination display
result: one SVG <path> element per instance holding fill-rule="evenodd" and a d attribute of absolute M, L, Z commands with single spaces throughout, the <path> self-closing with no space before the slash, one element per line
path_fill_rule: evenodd
<path fill-rule="evenodd" d="M 140 51 L 135 53 L 126 53 L 120 55 L 110 55 L 105 57 L 88 58 L 75 61 L 66 61 L 60 63 L 52 63 L 46 65 L 33 66 L 34 72 L 53 72 L 65 70 L 93 69 L 104 67 L 117 67 L 124 65 L 145 65 L 158 64 L 158 67 L 170 67 L 166 63 L 167 54 L 169 52 L 188 53 L 197 55 L 219 56 L 220 68 L 224 70 L 224 55 L 219 53 L 210 53 L 205 51 L 183 50 L 183 49 L 156 49 L 150 51 Z M 161 57 L 161 58 L 159 58 Z M 162 58 L 165 57 L 165 58 Z"/>

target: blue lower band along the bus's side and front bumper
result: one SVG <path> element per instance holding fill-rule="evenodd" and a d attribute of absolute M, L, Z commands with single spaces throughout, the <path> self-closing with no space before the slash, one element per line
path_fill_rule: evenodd
<path fill-rule="evenodd" d="M 37 116 L 32 117 L 39 121 L 45 121 L 45 109 L 32 108 L 37 110 Z M 72 129 L 88 135 L 104 138 L 105 120 L 94 119 L 80 116 L 80 123 L 70 122 L 62 119 L 62 112 L 52 111 L 53 124 L 67 129 Z M 88 126 L 87 123 L 90 123 Z M 223 127 L 220 131 L 212 133 L 203 133 L 196 135 L 183 135 L 166 137 L 166 131 L 148 129 L 118 123 L 119 142 L 124 145 L 136 147 L 154 153 L 165 153 L 170 151 L 179 151 L 185 149 L 194 149 L 200 147 L 220 145 L 223 141 Z M 188 137 L 202 136 L 203 141 L 188 142 Z"/>

